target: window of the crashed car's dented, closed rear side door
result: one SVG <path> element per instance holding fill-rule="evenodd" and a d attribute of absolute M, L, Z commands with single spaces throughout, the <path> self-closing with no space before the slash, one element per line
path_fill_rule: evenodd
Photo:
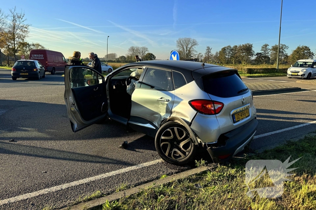
<path fill-rule="evenodd" d="M 173 90 L 171 71 L 148 68 L 140 88 L 155 90 Z"/>

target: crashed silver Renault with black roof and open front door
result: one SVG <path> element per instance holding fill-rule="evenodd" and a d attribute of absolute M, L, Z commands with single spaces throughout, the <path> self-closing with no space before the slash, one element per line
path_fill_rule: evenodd
<path fill-rule="evenodd" d="M 79 71 L 89 74 L 81 87 L 71 88 Z M 73 132 L 108 116 L 154 137 L 161 158 L 177 165 L 192 161 L 198 147 L 214 162 L 225 162 L 244 149 L 258 127 L 251 90 L 237 70 L 223 66 L 143 61 L 106 77 L 89 67 L 66 66 L 65 87 Z"/>

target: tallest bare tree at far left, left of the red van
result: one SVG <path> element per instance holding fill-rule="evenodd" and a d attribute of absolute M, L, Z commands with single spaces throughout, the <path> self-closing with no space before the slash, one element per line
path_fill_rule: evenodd
<path fill-rule="evenodd" d="M 7 33 L 5 33 L 5 38 L 9 41 L 12 52 L 14 55 L 14 61 L 16 61 L 16 54 L 19 51 L 18 45 L 20 42 L 24 42 L 25 38 L 29 33 L 30 24 L 26 24 L 25 13 L 21 10 L 21 12 L 16 11 L 16 7 L 14 9 L 9 9 L 9 20 L 8 20 L 8 28 Z"/>

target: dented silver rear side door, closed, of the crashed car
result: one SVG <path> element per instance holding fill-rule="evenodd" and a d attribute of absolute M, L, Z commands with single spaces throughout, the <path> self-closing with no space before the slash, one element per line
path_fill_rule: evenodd
<path fill-rule="evenodd" d="M 162 120 L 171 115 L 175 98 L 172 74 L 169 70 L 152 67 L 143 74 L 132 94 L 129 124 L 157 129 Z"/>

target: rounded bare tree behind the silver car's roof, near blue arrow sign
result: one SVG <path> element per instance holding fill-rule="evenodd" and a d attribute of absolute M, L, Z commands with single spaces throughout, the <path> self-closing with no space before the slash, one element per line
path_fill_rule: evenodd
<path fill-rule="evenodd" d="M 179 38 L 176 46 L 179 50 L 180 57 L 182 57 L 183 60 L 188 60 L 196 53 L 195 47 L 198 46 L 198 42 L 192 38 Z"/>

